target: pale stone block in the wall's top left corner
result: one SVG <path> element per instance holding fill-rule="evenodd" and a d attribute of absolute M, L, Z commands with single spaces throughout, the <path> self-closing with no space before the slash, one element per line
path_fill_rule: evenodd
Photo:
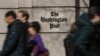
<path fill-rule="evenodd" d="M 0 8 L 18 8 L 18 0 L 0 0 Z"/>

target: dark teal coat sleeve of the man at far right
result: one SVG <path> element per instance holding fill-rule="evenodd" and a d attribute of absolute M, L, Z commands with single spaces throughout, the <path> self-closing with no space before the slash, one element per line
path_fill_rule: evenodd
<path fill-rule="evenodd" d="M 76 47 L 77 50 L 84 56 L 91 56 L 88 50 L 86 49 L 86 45 L 88 44 L 89 36 L 92 35 L 94 32 L 94 28 L 91 26 L 83 27 L 80 30 L 80 34 L 76 40 Z"/>

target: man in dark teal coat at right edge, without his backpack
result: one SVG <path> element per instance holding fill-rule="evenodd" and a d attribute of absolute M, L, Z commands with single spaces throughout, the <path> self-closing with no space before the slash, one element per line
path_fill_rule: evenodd
<path fill-rule="evenodd" d="M 90 17 L 89 17 L 90 16 Z M 90 8 L 88 15 L 82 15 L 77 21 L 81 27 L 76 40 L 77 56 L 100 56 L 100 47 L 98 46 L 97 25 L 100 23 L 100 9 L 97 7 Z"/>

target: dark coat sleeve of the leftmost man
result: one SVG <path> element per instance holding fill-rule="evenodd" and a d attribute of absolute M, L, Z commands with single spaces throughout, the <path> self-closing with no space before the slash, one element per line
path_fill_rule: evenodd
<path fill-rule="evenodd" d="M 20 37 L 20 33 L 21 33 L 21 25 L 12 26 L 11 34 L 7 36 L 9 41 L 6 42 L 5 44 L 6 46 L 4 46 L 0 56 L 7 56 L 9 53 L 13 51 Z"/>

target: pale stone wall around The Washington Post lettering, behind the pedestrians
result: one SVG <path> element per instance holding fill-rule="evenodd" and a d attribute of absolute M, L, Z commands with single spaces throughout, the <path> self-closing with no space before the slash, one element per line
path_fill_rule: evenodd
<path fill-rule="evenodd" d="M 80 0 L 80 12 L 87 11 L 89 0 Z M 0 0 L 0 50 L 5 40 L 7 24 L 4 22 L 4 14 L 9 10 L 27 10 L 30 14 L 29 21 L 39 21 L 42 26 L 41 36 L 45 46 L 50 51 L 50 56 L 65 56 L 63 39 L 67 36 L 71 24 L 76 18 L 76 0 Z M 51 17 L 50 12 L 58 12 L 58 17 L 67 18 L 68 22 L 60 23 L 59 29 L 49 28 L 49 23 L 40 21 L 41 16 Z"/>

